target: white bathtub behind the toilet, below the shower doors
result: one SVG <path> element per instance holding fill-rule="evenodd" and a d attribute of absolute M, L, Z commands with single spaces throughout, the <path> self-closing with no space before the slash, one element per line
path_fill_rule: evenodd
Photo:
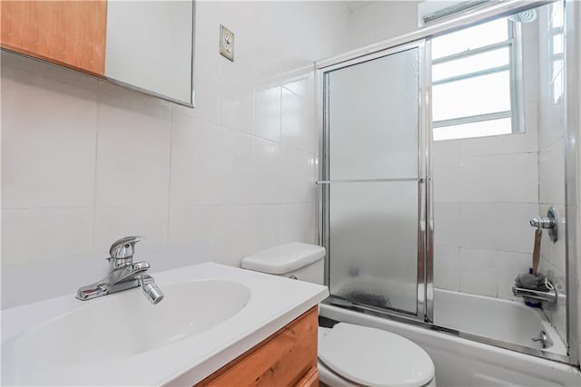
<path fill-rule="evenodd" d="M 490 338 L 540 351 L 531 341 L 545 330 L 552 341 L 546 353 L 563 357 L 566 347 L 541 311 L 522 303 L 435 289 L 434 321 L 472 338 Z M 320 315 L 400 334 L 418 343 L 436 366 L 438 386 L 580 386 L 581 372 L 565 363 L 511 351 L 444 333 L 422 324 L 407 324 L 372 314 L 321 304 Z M 550 356 L 550 354 L 549 354 Z"/>

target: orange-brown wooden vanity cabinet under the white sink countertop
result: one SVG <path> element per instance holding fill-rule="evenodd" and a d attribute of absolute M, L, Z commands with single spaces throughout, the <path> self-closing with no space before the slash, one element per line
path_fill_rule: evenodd
<path fill-rule="evenodd" d="M 319 386 L 318 328 L 318 306 L 314 306 L 198 386 Z"/>

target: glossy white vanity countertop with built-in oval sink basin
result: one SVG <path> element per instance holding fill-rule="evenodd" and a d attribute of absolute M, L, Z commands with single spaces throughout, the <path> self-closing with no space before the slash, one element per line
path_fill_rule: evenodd
<path fill-rule="evenodd" d="M 317 305 L 325 286 L 206 262 L 140 288 L 2 311 L 2 385 L 195 385 Z"/>

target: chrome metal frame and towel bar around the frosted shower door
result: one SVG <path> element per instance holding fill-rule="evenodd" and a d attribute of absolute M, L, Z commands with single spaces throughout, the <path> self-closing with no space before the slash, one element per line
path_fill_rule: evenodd
<path fill-rule="evenodd" d="M 367 63 L 379 58 L 387 57 L 396 53 L 402 53 L 412 49 L 418 49 L 418 177 L 410 179 L 355 179 L 355 180 L 330 180 L 329 171 L 329 74 L 344 68 L 355 66 L 361 63 Z M 430 76 L 427 70 L 426 63 L 429 63 L 429 41 L 427 39 L 420 39 L 408 44 L 400 44 L 396 47 L 391 47 L 385 50 L 380 50 L 376 53 L 354 58 L 350 61 L 337 63 L 327 66 L 319 70 L 319 78 L 322 82 L 321 92 L 323 101 L 322 114 L 322 133 L 320 138 L 320 181 L 317 184 L 320 186 L 320 242 L 323 247 L 330 251 L 330 225 L 329 225 L 329 199 L 330 199 L 330 185 L 332 184 L 349 184 L 350 182 L 369 182 L 369 181 L 383 181 L 383 182 L 402 182 L 402 181 L 418 181 L 418 256 L 417 256 L 417 304 L 416 313 L 411 314 L 395 309 L 383 309 L 376 306 L 364 305 L 349 300 L 343 300 L 336 297 L 335 302 L 341 304 L 356 305 L 359 308 L 367 309 L 378 313 L 385 313 L 390 315 L 397 315 L 403 318 L 409 318 L 419 321 L 433 321 L 433 274 L 432 262 L 433 258 L 432 247 L 428 246 L 432 242 L 431 236 L 433 224 L 431 215 L 431 206 L 428 205 L 428 189 L 430 187 L 431 170 L 428 168 L 429 160 L 429 91 L 430 91 Z M 386 108 L 389 108 L 386 106 Z M 428 257 L 429 256 L 429 257 Z M 330 285 L 330 260 L 325 262 L 325 284 Z M 335 298 L 331 295 L 332 298 Z"/>

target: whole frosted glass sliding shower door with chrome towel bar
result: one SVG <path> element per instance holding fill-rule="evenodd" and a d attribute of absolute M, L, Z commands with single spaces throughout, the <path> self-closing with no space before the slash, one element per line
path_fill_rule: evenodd
<path fill-rule="evenodd" d="M 330 294 L 426 316 L 424 43 L 323 70 Z"/>

